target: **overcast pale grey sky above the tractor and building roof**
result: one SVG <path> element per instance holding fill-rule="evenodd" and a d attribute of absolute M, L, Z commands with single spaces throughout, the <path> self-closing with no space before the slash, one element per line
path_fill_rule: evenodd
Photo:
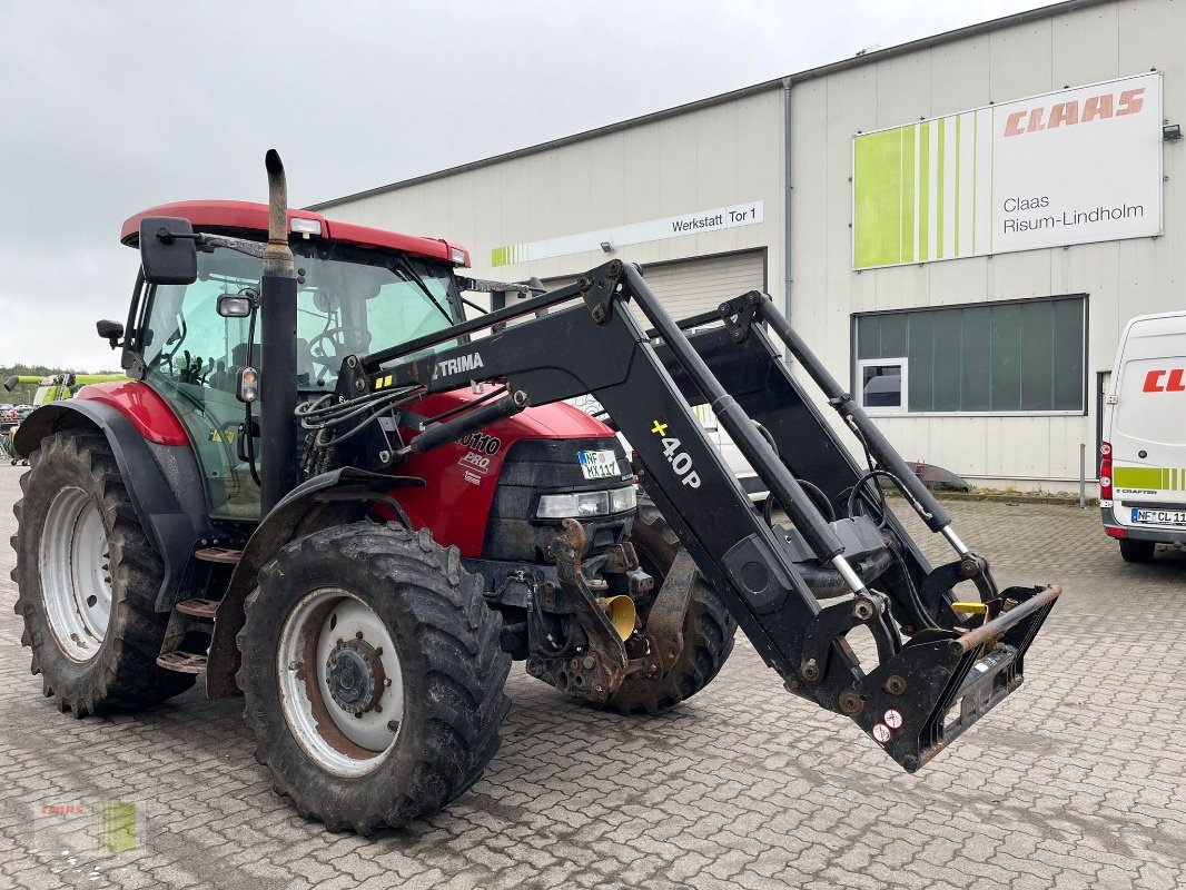
<path fill-rule="evenodd" d="M 117 368 L 120 223 L 268 147 L 304 205 L 1040 5 L 0 0 L 0 364 Z"/>

